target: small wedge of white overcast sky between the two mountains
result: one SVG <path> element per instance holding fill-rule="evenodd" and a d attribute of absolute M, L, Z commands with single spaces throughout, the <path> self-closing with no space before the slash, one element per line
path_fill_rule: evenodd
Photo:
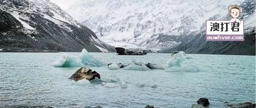
<path fill-rule="evenodd" d="M 57 4 L 62 9 L 66 10 L 69 6 L 76 3 L 79 0 L 50 0 L 52 3 Z"/>

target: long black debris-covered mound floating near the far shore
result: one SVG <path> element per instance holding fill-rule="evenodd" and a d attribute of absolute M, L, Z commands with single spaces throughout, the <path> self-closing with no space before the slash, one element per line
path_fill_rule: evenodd
<path fill-rule="evenodd" d="M 116 47 L 115 49 L 117 50 L 117 53 L 119 55 L 146 55 L 147 54 L 147 52 L 143 52 L 143 51 L 133 52 L 128 49 L 124 49 L 120 47 Z"/>

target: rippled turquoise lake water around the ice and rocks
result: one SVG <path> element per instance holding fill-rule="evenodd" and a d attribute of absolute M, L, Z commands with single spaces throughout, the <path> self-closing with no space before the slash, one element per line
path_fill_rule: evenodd
<path fill-rule="evenodd" d="M 103 108 L 190 108 L 199 98 L 209 99 L 209 108 L 229 108 L 223 102 L 255 103 L 255 56 L 187 54 L 181 66 L 195 65 L 204 72 L 133 71 L 90 67 L 101 80 L 111 82 L 115 74 L 127 88 L 100 84 L 78 85 L 69 80 L 80 67 L 55 68 L 52 63 L 63 53 L 0 53 L 0 107 L 47 105 L 54 107 L 97 106 Z M 68 55 L 78 55 L 69 52 Z M 165 64 L 170 54 L 119 56 L 91 53 L 104 62 Z M 113 82 L 116 83 L 116 82 Z M 144 85 L 144 86 L 139 86 Z M 157 85 L 156 88 L 151 86 Z"/>

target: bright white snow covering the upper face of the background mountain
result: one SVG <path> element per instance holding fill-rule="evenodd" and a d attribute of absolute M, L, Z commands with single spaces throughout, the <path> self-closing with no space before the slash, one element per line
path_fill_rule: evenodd
<path fill-rule="evenodd" d="M 107 43 L 165 48 L 179 44 L 159 35 L 186 36 L 216 14 L 243 0 L 81 0 L 67 9 L 78 22 Z"/>

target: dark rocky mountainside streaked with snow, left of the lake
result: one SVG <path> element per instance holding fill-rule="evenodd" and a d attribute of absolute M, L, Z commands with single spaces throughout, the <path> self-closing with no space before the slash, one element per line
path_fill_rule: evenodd
<path fill-rule="evenodd" d="M 0 49 L 114 52 L 49 0 L 0 0 Z"/>

